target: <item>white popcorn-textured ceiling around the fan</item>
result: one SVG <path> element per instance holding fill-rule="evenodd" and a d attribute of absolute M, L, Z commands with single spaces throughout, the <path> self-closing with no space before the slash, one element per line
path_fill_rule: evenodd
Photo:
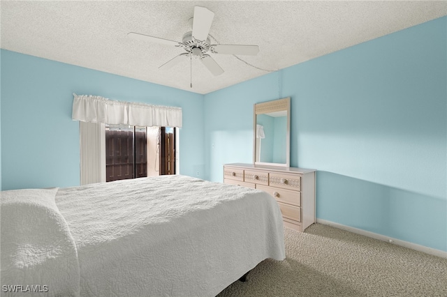
<path fill-rule="evenodd" d="M 225 73 L 200 61 L 159 70 L 181 47 L 127 37 L 138 32 L 182 41 L 194 6 L 215 14 L 221 44 L 258 45 L 239 56 L 278 70 L 447 15 L 446 1 L 1 1 L 1 48 L 45 59 L 210 93 L 264 75 L 232 55 L 212 54 Z"/>

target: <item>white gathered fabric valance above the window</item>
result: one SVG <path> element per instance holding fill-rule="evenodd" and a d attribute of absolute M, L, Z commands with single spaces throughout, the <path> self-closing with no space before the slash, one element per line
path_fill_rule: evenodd
<path fill-rule="evenodd" d="M 72 119 L 89 123 L 182 127 L 182 108 L 109 100 L 73 93 Z"/>

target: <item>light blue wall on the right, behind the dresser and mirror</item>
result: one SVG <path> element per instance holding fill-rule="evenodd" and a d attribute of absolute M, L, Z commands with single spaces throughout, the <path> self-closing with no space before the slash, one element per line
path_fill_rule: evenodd
<path fill-rule="evenodd" d="M 447 251 L 446 43 L 442 17 L 205 95 L 207 178 L 252 162 L 254 103 L 291 96 L 317 218 Z"/>

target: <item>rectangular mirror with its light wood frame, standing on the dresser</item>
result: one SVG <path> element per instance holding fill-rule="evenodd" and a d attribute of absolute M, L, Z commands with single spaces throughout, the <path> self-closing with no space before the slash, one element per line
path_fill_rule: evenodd
<path fill-rule="evenodd" d="M 291 98 L 254 105 L 254 164 L 290 166 Z"/>

